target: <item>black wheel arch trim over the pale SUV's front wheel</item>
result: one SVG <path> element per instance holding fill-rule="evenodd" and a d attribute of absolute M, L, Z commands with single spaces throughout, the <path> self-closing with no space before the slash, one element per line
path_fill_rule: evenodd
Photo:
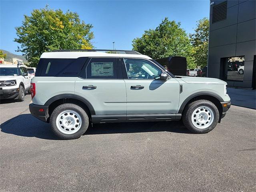
<path fill-rule="evenodd" d="M 223 108 L 222 108 L 222 105 L 220 102 L 224 102 L 224 100 L 218 94 L 215 94 L 212 92 L 197 92 L 197 93 L 194 93 L 194 94 L 188 96 L 184 100 L 184 102 L 181 104 L 178 113 L 182 114 L 184 108 L 191 102 L 193 102 L 195 100 L 202 100 L 202 99 L 213 102 L 216 105 L 216 107 L 218 108 L 219 113 L 220 113 L 220 118 L 219 118 L 219 122 L 220 122 L 222 112 L 223 112 Z"/>

